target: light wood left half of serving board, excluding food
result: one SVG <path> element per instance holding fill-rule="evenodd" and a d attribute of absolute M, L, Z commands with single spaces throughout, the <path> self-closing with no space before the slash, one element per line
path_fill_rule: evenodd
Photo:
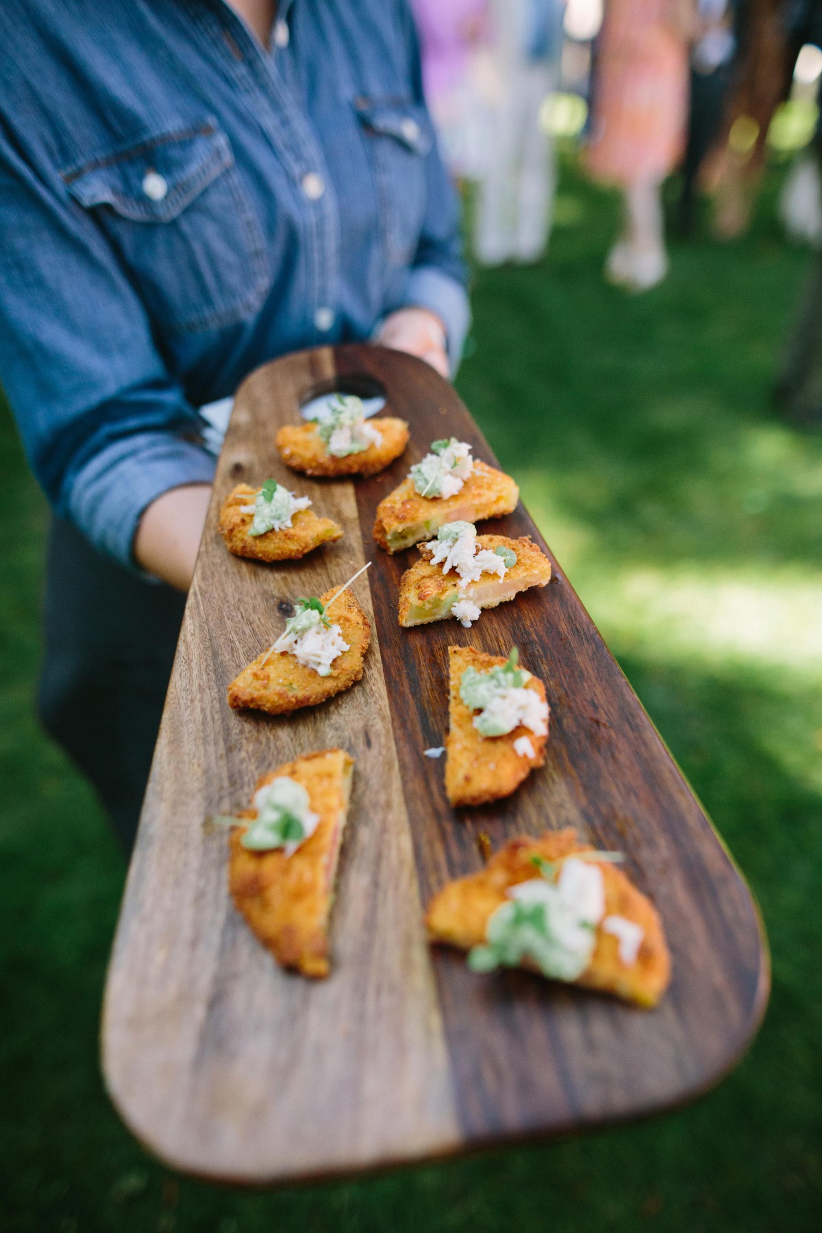
<path fill-rule="evenodd" d="M 420 922 L 380 639 L 364 679 L 323 707 L 233 713 L 228 682 L 281 631 L 282 599 L 362 563 L 350 482 L 295 477 L 274 432 L 332 353 L 264 370 L 238 398 L 163 718 L 111 962 L 104 1068 L 134 1133 L 181 1169 L 246 1180 L 341 1171 L 458 1142 Z M 216 522 L 239 480 L 274 476 L 345 529 L 291 567 L 229 557 Z M 355 594 L 372 618 L 365 578 Z M 262 772 L 339 745 L 356 760 L 333 916 L 333 975 L 281 972 L 230 904 L 224 831 Z"/>

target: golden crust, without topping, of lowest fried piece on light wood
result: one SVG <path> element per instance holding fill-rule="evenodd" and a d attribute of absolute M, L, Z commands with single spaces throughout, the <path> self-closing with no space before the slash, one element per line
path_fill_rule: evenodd
<path fill-rule="evenodd" d="M 354 758 L 344 750 L 322 750 L 286 762 L 264 774 L 260 789 L 277 776 L 288 776 L 308 793 L 319 824 L 292 856 L 281 848 L 250 852 L 240 843 L 246 831 L 230 832 L 228 885 L 249 928 L 283 968 L 304 977 L 327 977 L 328 922 L 334 899 L 336 864 L 351 792 Z M 244 810 L 253 820 L 256 810 Z"/>

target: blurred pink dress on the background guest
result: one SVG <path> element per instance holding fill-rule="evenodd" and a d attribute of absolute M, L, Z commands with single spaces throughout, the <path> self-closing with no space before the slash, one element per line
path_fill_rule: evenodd
<path fill-rule="evenodd" d="M 594 79 L 590 174 L 629 187 L 677 165 L 688 120 L 688 43 L 667 0 L 606 0 Z"/>

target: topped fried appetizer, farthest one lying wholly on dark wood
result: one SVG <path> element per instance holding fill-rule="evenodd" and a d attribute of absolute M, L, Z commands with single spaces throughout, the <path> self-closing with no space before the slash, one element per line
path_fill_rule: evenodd
<path fill-rule="evenodd" d="M 410 469 L 377 506 L 373 538 L 388 552 L 431 539 L 445 523 L 478 523 L 516 509 L 519 488 L 509 475 L 471 457 L 471 446 L 434 441 L 431 453 Z"/>

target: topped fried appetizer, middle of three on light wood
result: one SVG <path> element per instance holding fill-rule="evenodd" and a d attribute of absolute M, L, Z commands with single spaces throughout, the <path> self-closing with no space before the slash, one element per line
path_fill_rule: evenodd
<path fill-rule="evenodd" d="M 274 646 L 229 684 L 228 705 L 234 710 L 287 715 L 317 707 L 362 677 L 371 624 L 350 591 L 327 591 L 295 607 Z"/>

